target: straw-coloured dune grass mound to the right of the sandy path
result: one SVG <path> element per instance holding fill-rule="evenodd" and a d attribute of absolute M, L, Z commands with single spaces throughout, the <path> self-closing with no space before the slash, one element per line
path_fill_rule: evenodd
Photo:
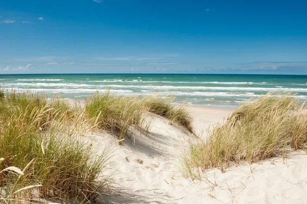
<path fill-rule="evenodd" d="M 241 161 L 252 164 L 306 147 L 305 104 L 289 94 L 269 93 L 243 103 L 224 125 L 213 128 L 205 142 L 191 143 L 185 169 L 190 175 L 191 169 L 224 172 Z"/>

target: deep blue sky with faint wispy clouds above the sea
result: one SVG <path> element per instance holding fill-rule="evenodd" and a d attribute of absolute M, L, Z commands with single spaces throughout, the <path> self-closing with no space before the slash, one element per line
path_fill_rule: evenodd
<path fill-rule="evenodd" d="M 0 74 L 307 74 L 307 1 L 0 2 Z"/>

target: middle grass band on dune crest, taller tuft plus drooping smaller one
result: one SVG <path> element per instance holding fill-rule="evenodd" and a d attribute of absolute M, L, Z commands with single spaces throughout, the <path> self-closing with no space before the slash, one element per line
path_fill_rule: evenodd
<path fill-rule="evenodd" d="M 109 90 L 100 94 L 94 93 L 85 99 L 85 111 L 93 120 L 94 126 L 111 131 L 122 140 L 128 130 L 148 130 L 144 114 L 146 111 L 160 115 L 171 123 L 178 123 L 189 131 L 193 131 L 192 118 L 185 107 L 175 107 L 171 100 L 156 95 L 139 98 L 136 96 L 116 96 Z M 133 132 L 133 131 L 132 131 Z"/>

